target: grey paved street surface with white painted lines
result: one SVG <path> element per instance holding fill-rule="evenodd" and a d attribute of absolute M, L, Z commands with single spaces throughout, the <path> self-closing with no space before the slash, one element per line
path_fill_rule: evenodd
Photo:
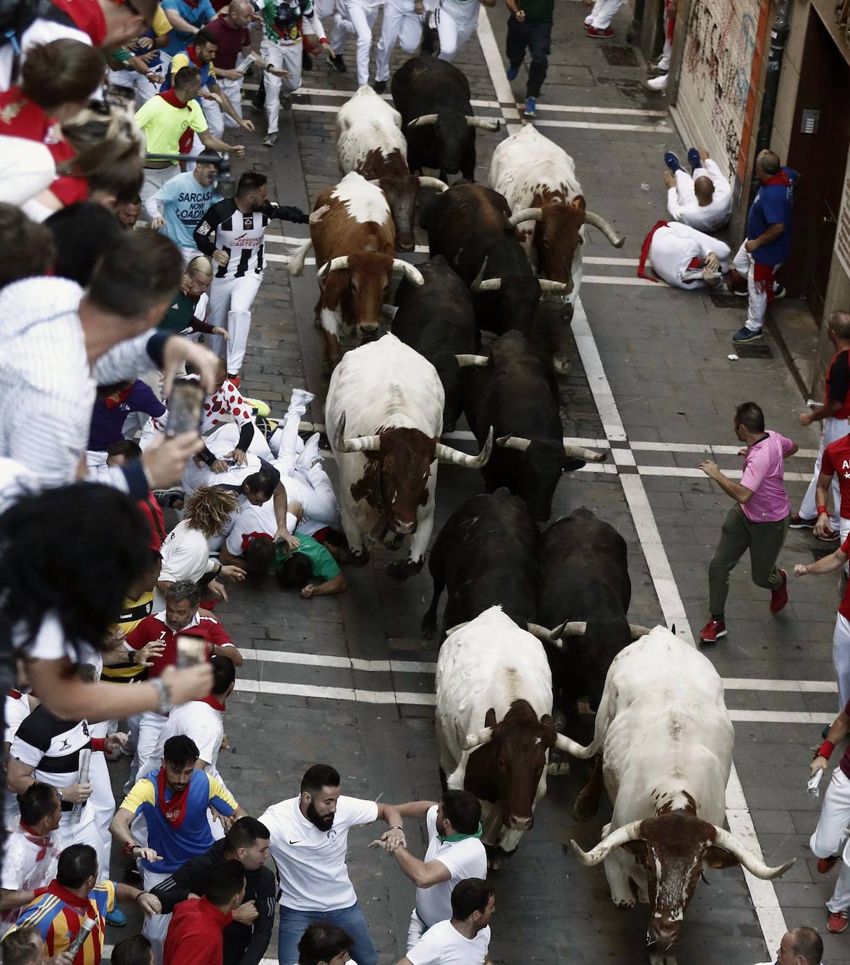
<path fill-rule="evenodd" d="M 730 335 L 745 315 L 742 299 L 671 290 L 635 277 L 644 234 L 666 216 L 663 152 L 684 157 L 689 146 L 678 140 L 664 98 L 644 89 L 640 54 L 624 45 L 627 5 L 617 14 L 613 41 L 588 40 L 584 15 L 579 3 L 556 3 L 538 125 L 575 158 L 588 207 L 625 234 L 626 243 L 617 251 L 588 231 L 583 311 L 573 325 L 571 371 L 561 380 L 564 435 L 612 452 L 597 471 L 563 478 L 553 519 L 587 506 L 617 527 L 629 547 L 630 619 L 676 623 L 679 635 L 693 641 L 708 617 L 707 565 L 730 505 L 699 472 L 699 462 L 714 458 L 725 471 L 740 470 L 732 413 L 737 402 L 756 400 L 768 426 L 800 446 L 787 463 L 796 510 L 818 434 L 799 425 L 805 400 L 772 339 L 738 351 L 737 360 L 728 358 L 734 351 Z M 516 129 L 519 114 L 509 106 L 507 81 L 494 57 L 504 49 L 507 11 L 498 7 L 485 16 L 489 27 L 455 63 L 469 77 L 473 97 L 485 102 L 476 113 L 502 117 L 513 125 L 508 129 Z M 240 167 L 266 172 L 270 196 L 282 204 L 312 207 L 339 178 L 334 113 L 356 86 L 351 43 L 345 59 L 349 72 L 343 75 L 315 60 L 292 111 L 282 114 L 281 140 L 272 151 L 260 146 L 264 121 L 246 104 L 258 132 L 245 138 L 248 154 Z M 393 69 L 402 62 L 397 51 Z M 523 99 L 524 79 L 523 71 L 513 85 L 517 100 Z M 478 132 L 480 181 L 486 181 L 490 156 L 504 136 Z M 307 418 L 321 424 L 327 382 L 313 323 L 315 268 L 308 267 L 303 278 L 288 277 L 283 262 L 306 232 L 287 223 L 282 228 L 286 236 L 270 237 L 266 246 L 270 263 L 255 304 L 243 387 L 276 414 L 283 413 L 292 388 L 309 388 L 316 400 Z M 422 232 L 418 243 L 426 243 Z M 441 466 L 435 534 L 480 487 L 477 473 Z M 790 571 L 795 562 L 810 562 L 834 545 L 793 532 L 781 565 Z M 369 565 L 348 568 L 349 589 L 340 597 L 305 601 L 282 593 L 271 580 L 250 581 L 234 587 L 230 603 L 217 611 L 246 655 L 229 703 L 231 749 L 219 758 L 219 768 L 249 813 L 294 795 L 315 761 L 340 769 L 345 793 L 383 801 L 439 795 L 437 648 L 419 631 L 430 578 L 425 566 L 404 584 L 391 581 L 383 566 L 392 558 L 376 549 Z M 765 961 L 765 940 L 773 961 L 786 923 L 818 928 L 826 936 L 825 959 L 842 965 L 850 963 L 848 939 L 829 936 L 825 928 L 824 901 L 836 872 L 818 875 L 808 847 L 821 799 L 809 797 L 805 786 L 821 728 L 837 710 L 831 638 L 839 588 L 831 577 L 792 577 L 789 605 L 771 616 L 769 593 L 749 576 L 744 560 L 731 577 L 729 634 L 705 650 L 725 679 L 735 722 L 737 778 L 728 789 L 727 816 L 749 846 L 760 846 L 768 864 L 797 860 L 774 885 L 755 883 L 752 894 L 739 870 L 709 873 L 688 910 L 679 962 Z M 577 736 L 590 733 L 590 718 L 584 724 L 588 730 Z M 117 784 L 123 782 L 120 771 Z M 571 838 L 586 848 L 598 841 L 610 818 L 607 802 L 587 824 L 571 817 L 585 774 L 584 763 L 573 762 L 569 775 L 549 779 L 534 829 L 516 856 L 493 873 L 494 961 L 644 960 L 646 908 L 615 909 L 602 869 L 582 868 L 569 851 Z M 753 828 L 757 841 L 746 837 Z M 408 830 L 420 854 L 422 831 Z M 413 888 L 392 858 L 368 849 L 380 832 L 351 834 L 349 865 L 381 965 L 387 965 L 404 953 Z M 119 935 L 111 932 L 112 940 Z M 275 953 L 273 943 L 268 955 Z"/>

